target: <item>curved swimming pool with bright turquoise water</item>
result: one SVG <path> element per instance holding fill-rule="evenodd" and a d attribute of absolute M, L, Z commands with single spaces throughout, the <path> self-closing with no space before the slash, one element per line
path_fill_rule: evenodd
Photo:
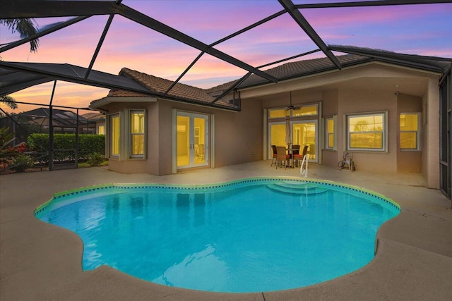
<path fill-rule="evenodd" d="M 42 221 L 78 233 L 83 269 L 107 264 L 162 285 L 248 293 L 299 288 L 374 258 L 390 199 L 326 181 L 102 185 L 61 192 Z"/>

